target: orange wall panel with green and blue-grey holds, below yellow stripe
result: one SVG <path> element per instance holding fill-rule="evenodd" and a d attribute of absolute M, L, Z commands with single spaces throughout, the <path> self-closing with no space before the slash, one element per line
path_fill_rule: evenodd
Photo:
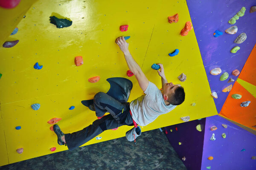
<path fill-rule="evenodd" d="M 241 99 L 233 99 L 232 94 L 241 94 Z M 241 102 L 251 101 L 249 106 L 241 107 Z M 256 130 L 256 98 L 250 94 L 243 86 L 238 82 L 235 82 L 232 90 L 227 96 L 227 100 L 219 113 L 228 119 L 238 122 L 241 125 L 250 127 Z"/>

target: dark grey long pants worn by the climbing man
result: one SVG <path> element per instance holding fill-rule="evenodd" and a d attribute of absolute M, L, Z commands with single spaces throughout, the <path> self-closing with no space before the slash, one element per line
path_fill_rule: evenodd
<path fill-rule="evenodd" d="M 99 92 L 94 96 L 93 104 L 96 116 L 102 117 L 106 112 L 110 114 L 95 120 L 92 125 L 82 130 L 65 134 L 65 140 L 69 150 L 74 150 L 90 141 L 104 130 L 113 129 L 122 125 L 133 126 L 128 102 L 120 103 L 108 94 Z"/>

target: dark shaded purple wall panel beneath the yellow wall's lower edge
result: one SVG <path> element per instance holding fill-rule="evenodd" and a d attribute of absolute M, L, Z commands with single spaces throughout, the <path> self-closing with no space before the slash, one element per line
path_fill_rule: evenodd
<path fill-rule="evenodd" d="M 201 125 L 201 132 L 195 128 L 198 124 Z M 166 136 L 180 159 L 182 160 L 183 156 L 186 157 L 183 163 L 188 170 L 200 170 L 204 145 L 204 125 L 205 118 L 164 127 L 167 132 Z"/>

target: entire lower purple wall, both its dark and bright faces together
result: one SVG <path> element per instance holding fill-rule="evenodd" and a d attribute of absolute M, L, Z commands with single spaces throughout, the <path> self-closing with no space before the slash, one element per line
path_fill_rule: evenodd
<path fill-rule="evenodd" d="M 198 125 L 201 131 L 197 130 Z M 211 130 L 212 126 L 217 129 Z M 210 116 L 164 129 L 170 144 L 188 170 L 256 169 L 256 136 L 220 116 Z M 225 138 L 222 137 L 223 133 Z"/>

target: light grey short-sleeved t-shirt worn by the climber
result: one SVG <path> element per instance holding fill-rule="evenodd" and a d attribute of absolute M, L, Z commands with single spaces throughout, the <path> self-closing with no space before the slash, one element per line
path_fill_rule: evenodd
<path fill-rule="evenodd" d="M 161 91 L 152 82 L 148 83 L 144 95 L 130 103 L 131 116 L 140 126 L 148 125 L 157 119 L 159 115 L 169 113 L 175 107 L 175 105 L 166 105 L 164 103 Z"/>

